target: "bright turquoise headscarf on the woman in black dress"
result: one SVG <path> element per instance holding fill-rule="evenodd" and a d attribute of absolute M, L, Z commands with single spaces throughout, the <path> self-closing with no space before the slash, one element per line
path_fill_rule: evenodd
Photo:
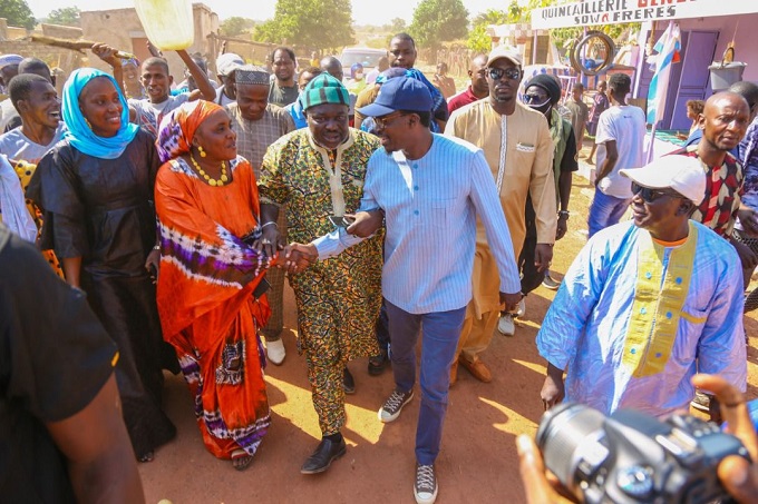
<path fill-rule="evenodd" d="M 122 127 L 115 137 L 106 138 L 95 135 L 79 109 L 79 95 L 81 93 L 81 90 L 96 77 L 107 77 L 110 79 L 118 91 L 118 98 L 124 108 L 122 110 Z M 64 115 L 64 122 L 66 122 L 66 127 L 68 128 L 64 138 L 66 138 L 77 150 L 96 158 L 116 159 L 124 152 L 126 146 L 134 140 L 134 137 L 139 130 L 137 125 L 129 122 L 129 106 L 126 102 L 126 98 L 124 98 L 116 79 L 95 68 L 79 68 L 71 72 L 64 85 L 64 99 L 60 108 Z"/>

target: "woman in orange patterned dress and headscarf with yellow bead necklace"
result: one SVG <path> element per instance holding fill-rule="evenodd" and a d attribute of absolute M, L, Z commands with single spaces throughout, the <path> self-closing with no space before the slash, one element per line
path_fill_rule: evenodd
<path fill-rule="evenodd" d="M 157 299 L 205 446 L 243 470 L 271 422 L 257 329 L 269 317 L 263 276 L 278 259 L 255 248 L 255 177 L 235 140 L 226 111 L 208 101 L 186 103 L 161 125 Z"/>

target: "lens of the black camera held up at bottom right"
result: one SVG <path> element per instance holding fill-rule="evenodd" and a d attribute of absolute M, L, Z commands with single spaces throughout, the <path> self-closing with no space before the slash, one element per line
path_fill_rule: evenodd
<path fill-rule="evenodd" d="M 543 415 L 537 445 L 547 468 L 568 488 L 574 487 L 579 465 L 584 462 L 576 456 L 577 448 L 586 448 L 587 443 L 597 444 L 603 436 L 604 421 L 599 411 L 575 403 L 560 404 Z"/>

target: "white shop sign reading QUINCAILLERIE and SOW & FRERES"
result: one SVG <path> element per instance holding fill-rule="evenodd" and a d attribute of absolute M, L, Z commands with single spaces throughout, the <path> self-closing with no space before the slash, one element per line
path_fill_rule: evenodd
<path fill-rule="evenodd" d="M 758 11 L 755 0 L 592 0 L 532 11 L 532 28 L 585 27 L 622 22 L 710 18 Z"/>

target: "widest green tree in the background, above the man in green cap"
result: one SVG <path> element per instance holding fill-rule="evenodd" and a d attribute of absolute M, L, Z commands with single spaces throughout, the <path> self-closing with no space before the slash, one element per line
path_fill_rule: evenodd
<path fill-rule="evenodd" d="M 315 50 L 354 43 L 350 0 L 276 0 L 274 18 L 255 27 L 254 40 Z"/>

